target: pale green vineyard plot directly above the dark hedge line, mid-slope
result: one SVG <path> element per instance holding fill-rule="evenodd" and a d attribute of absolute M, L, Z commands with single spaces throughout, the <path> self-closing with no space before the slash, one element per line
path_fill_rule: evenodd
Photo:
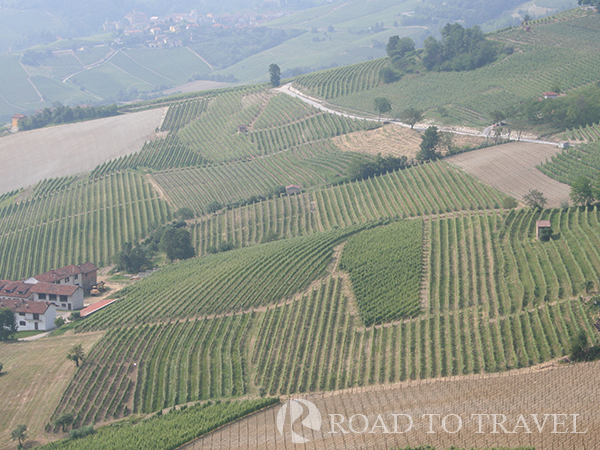
<path fill-rule="evenodd" d="M 250 197 L 266 196 L 278 186 L 300 184 L 303 188 L 326 184 L 345 175 L 354 159 L 367 156 L 343 153 L 331 143 L 315 144 L 257 158 L 208 167 L 169 170 L 153 174 L 170 200 L 196 214 L 205 214 L 214 201 L 222 205 L 245 203 Z"/>

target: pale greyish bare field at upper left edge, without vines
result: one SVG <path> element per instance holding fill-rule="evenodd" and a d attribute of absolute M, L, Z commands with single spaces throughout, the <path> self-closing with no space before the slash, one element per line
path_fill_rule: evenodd
<path fill-rule="evenodd" d="M 92 170 L 142 149 L 167 108 L 19 132 L 0 139 L 0 194 Z"/>

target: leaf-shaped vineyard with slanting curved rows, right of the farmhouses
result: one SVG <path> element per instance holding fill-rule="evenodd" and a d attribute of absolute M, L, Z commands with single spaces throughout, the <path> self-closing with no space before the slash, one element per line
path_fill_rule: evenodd
<path fill-rule="evenodd" d="M 168 266 L 121 290 L 121 300 L 82 322 L 78 330 L 231 313 L 289 299 L 323 275 L 340 241 L 364 227 L 357 225 Z"/>

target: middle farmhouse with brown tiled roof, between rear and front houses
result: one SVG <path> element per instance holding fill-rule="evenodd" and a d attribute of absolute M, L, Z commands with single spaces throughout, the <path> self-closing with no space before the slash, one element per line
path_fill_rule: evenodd
<path fill-rule="evenodd" d="M 73 311 L 83 308 L 83 289 L 31 278 L 27 281 L 0 280 L 0 300 L 49 301 L 57 309 Z"/>

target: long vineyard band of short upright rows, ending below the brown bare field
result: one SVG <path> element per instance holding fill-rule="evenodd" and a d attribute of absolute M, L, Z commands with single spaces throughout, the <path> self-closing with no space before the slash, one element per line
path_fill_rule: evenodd
<path fill-rule="evenodd" d="M 383 218 L 498 208 L 503 198 L 471 176 L 436 162 L 204 217 L 193 237 L 198 254 L 205 254 L 222 241 L 246 247 L 265 238 L 302 236 Z M 182 198 L 174 205 L 194 203 Z"/>

